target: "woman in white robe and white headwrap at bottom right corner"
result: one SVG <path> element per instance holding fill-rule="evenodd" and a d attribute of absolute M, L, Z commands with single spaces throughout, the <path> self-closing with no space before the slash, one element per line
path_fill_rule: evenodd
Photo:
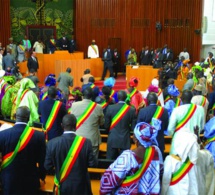
<path fill-rule="evenodd" d="M 164 162 L 162 195 L 214 194 L 211 154 L 199 150 L 197 136 L 188 129 L 177 132 L 174 141 L 174 153 Z"/>

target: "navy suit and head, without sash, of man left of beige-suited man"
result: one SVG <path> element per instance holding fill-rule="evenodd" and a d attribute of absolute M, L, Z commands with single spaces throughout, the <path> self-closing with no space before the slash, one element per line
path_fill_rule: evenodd
<path fill-rule="evenodd" d="M 55 100 L 55 98 L 57 97 L 57 93 L 58 93 L 57 89 L 51 86 L 48 88 L 48 99 L 39 102 L 38 113 L 39 115 L 41 115 L 42 123 L 45 128 L 47 128 L 46 123 L 47 123 L 47 120 L 49 119 L 53 106 L 56 105 L 57 100 Z M 51 140 L 57 136 L 60 136 L 63 133 L 63 128 L 61 126 L 61 123 L 64 115 L 66 115 L 67 112 L 66 112 L 65 105 L 59 101 L 57 102 L 61 105 L 59 106 L 59 109 L 56 110 L 57 112 L 56 118 L 53 121 L 52 126 L 48 130 L 48 136 L 47 136 L 48 140 Z"/>

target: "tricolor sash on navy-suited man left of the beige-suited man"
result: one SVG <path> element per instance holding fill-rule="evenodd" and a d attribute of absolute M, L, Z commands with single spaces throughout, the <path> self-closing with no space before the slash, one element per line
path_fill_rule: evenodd
<path fill-rule="evenodd" d="M 57 117 L 57 114 L 58 114 L 58 111 L 59 111 L 61 105 L 62 105 L 62 102 L 60 102 L 60 101 L 54 102 L 52 109 L 51 109 L 51 112 L 49 114 L 49 117 L 48 117 L 46 124 L 45 124 L 46 133 L 52 128 L 52 125 L 54 124 L 54 121 Z"/>

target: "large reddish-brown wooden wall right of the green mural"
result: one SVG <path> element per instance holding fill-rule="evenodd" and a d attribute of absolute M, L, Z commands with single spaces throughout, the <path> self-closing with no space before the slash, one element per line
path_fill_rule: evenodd
<path fill-rule="evenodd" d="M 132 46 L 163 47 L 168 44 L 176 57 L 188 48 L 192 61 L 200 58 L 202 0 L 76 0 L 75 34 L 79 50 L 84 51 L 92 39 L 100 50 L 109 38 L 121 38 L 121 55 Z M 110 22 L 112 21 L 112 22 Z M 162 30 L 155 23 L 162 24 Z"/>

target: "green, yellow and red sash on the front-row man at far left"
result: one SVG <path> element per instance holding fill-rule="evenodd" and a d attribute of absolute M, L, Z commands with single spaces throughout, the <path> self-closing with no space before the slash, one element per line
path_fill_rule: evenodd
<path fill-rule="evenodd" d="M 2 164 L 1 164 L 2 169 L 6 168 L 8 165 L 10 165 L 13 162 L 18 152 L 22 151 L 27 146 L 33 134 L 34 134 L 34 130 L 29 126 L 26 126 L 19 138 L 19 141 L 15 147 L 15 150 L 3 156 Z"/>

